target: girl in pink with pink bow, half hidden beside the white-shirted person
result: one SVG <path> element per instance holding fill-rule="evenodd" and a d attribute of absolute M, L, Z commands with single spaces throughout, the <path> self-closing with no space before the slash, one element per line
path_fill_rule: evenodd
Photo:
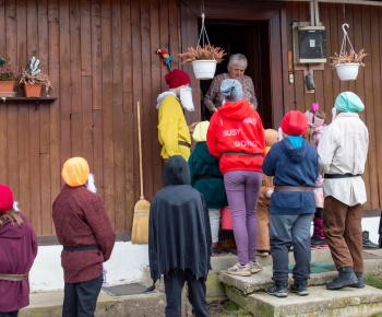
<path fill-rule="evenodd" d="M 305 113 L 308 119 L 308 129 L 305 133 L 306 140 L 314 146 L 317 150 L 319 143 L 321 141 L 322 136 L 326 129 L 325 119 L 326 114 L 320 110 L 313 113 L 313 110 L 308 110 Z M 319 178 L 315 180 L 314 187 L 314 198 L 317 210 L 313 218 L 313 235 L 311 237 L 311 247 L 327 247 L 327 243 L 325 240 L 324 232 L 322 228 L 323 223 L 323 208 L 324 208 L 324 195 L 323 195 L 323 186 L 324 178 L 323 175 L 320 174 Z"/>

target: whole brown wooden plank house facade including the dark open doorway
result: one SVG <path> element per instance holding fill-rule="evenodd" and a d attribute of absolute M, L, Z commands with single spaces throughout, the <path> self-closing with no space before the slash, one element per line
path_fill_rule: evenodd
<path fill-rule="evenodd" d="M 0 0 L 0 56 L 20 68 L 32 56 L 51 79 L 41 99 L 0 99 L 0 184 L 13 190 L 38 236 L 55 235 L 51 206 L 63 185 L 62 164 L 83 156 L 94 173 L 98 195 L 120 238 L 129 239 L 140 196 L 136 103 L 142 109 L 144 195 L 152 200 L 163 187 L 164 163 L 157 139 L 157 95 L 167 90 L 168 72 L 156 54 L 168 51 L 172 68 L 191 77 L 196 110 L 206 83 L 194 79 L 178 52 L 198 43 L 201 2 L 194 0 Z M 332 1 L 335 2 L 335 1 Z M 204 0 L 206 30 L 228 54 L 246 49 L 248 74 L 255 84 L 265 128 L 277 128 L 290 109 L 305 111 L 319 102 L 330 117 L 339 92 L 350 90 L 366 104 L 370 148 L 363 179 L 368 202 L 379 212 L 382 197 L 382 7 L 318 2 L 326 27 L 326 55 L 338 52 L 342 24 L 350 25 L 356 49 L 369 56 L 356 81 L 339 82 L 329 59 L 313 70 L 315 91 L 308 92 L 303 68 L 288 82 L 291 22 L 310 21 L 309 1 Z M 351 1 L 350 1 L 351 2 Z M 360 1 L 357 1 L 360 2 Z M 371 1 L 368 1 L 368 3 Z M 222 31 L 222 32 L 220 32 Z M 213 43 L 214 44 L 214 43 Z M 225 66 L 223 66 L 225 67 Z M 220 69 L 222 71 L 222 69 Z M 23 96 L 22 87 L 16 87 Z"/>

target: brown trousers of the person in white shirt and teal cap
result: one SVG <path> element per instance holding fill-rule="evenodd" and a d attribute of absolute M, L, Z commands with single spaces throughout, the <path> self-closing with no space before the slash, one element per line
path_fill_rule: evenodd
<path fill-rule="evenodd" d="M 362 206 L 349 207 L 332 196 L 325 197 L 323 230 L 337 270 L 354 267 L 363 272 Z"/>

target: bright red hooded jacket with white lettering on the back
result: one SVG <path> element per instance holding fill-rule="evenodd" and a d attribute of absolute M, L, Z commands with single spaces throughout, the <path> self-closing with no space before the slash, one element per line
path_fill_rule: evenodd
<path fill-rule="evenodd" d="M 247 99 L 227 102 L 215 113 L 207 132 L 210 153 L 220 158 L 223 174 L 229 171 L 258 171 L 265 156 L 263 124 Z M 224 152 L 260 153 L 262 156 L 223 155 Z"/>

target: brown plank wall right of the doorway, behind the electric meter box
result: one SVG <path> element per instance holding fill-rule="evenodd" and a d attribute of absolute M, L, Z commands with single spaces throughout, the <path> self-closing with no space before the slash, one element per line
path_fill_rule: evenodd
<path fill-rule="evenodd" d="M 320 21 L 326 27 L 326 56 L 334 56 L 341 50 L 343 40 L 342 25 L 344 20 L 343 3 L 319 3 Z M 305 77 L 302 71 L 296 71 L 295 82 L 297 104 L 294 103 L 294 87 L 289 85 L 289 108 L 305 111 L 311 108 L 313 102 L 320 104 L 320 109 L 325 110 L 331 122 L 331 109 L 337 95 L 345 91 L 351 91 L 359 95 L 366 105 L 362 118 L 369 129 L 370 145 L 368 162 L 363 180 L 367 187 L 368 201 L 365 209 L 380 209 L 382 197 L 382 7 L 345 5 L 345 19 L 349 24 L 348 36 L 355 50 L 358 52 L 365 48 L 369 54 L 365 58 L 366 67 L 360 67 L 356 81 L 341 82 L 336 71 L 332 70 L 330 62 L 324 70 L 314 71 L 315 92 L 306 93 Z M 287 2 L 288 50 L 291 50 L 290 22 L 309 22 L 310 11 L 307 2 Z M 327 59 L 330 61 L 330 59 Z"/>

